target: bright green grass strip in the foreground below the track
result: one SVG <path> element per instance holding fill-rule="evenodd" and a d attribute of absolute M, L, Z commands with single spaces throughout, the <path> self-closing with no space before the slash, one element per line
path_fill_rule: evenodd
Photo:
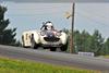
<path fill-rule="evenodd" d="M 99 71 L 0 57 L 0 73 L 100 73 Z"/>

